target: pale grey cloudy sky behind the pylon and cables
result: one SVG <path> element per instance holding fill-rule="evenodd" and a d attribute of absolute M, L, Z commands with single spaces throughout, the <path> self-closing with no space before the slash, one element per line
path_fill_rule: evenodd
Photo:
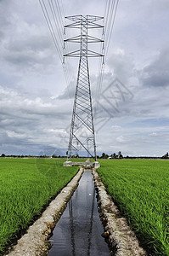
<path fill-rule="evenodd" d="M 101 0 L 62 3 L 65 15 L 104 15 Z M 0 25 L 0 154 L 65 154 L 76 61 L 66 83 L 39 1 L 0 0 Z M 168 0 L 119 1 L 94 113 L 98 153 L 169 151 L 168 25 Z"/>

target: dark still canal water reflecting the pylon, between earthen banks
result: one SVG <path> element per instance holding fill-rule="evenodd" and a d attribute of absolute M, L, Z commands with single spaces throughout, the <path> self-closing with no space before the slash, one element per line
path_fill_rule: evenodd
<path fill-rule="evenodd" d="M 106 256 L 91 170 L 85 170 L 65 212 L 54 229 L 49 256 Z"/>

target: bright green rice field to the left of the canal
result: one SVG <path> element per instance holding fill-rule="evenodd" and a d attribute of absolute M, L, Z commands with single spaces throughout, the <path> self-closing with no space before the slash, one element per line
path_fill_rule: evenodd
<path fill-rule="evenodd" d="M 60 159 L 0 159 L 0 253 L 76 175 Z"/>

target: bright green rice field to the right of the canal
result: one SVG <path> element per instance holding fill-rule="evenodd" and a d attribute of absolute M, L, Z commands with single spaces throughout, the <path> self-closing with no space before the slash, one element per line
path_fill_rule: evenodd
<path fill-rule="evenodd" d="M 99 176 L 142 246 L 169 255 L 169 161 L 99 161 Z"/>

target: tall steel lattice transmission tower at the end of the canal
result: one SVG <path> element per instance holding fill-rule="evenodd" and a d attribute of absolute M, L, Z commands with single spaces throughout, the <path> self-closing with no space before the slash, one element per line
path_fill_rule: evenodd
<path fill-rule="evenodd" d="M 66 38 L 64 41 L 79 43 L 80 49 L 65 53 L 64 57 L 78 57 L 79 68 L 76 82 L 74 107 L 70 125 L 70 140 L 68 146 L 68 159 L 80 150 L 87 151 L 90 157 L 97 160 L 96 143 L 93 125 L 93 106 L 89 79 L 88 57 L 104 57 L 104 26 L 99 24 L 103 17 L 93 15 L 75 15 L 65 17 L 73 22 L 65 28 L 80 29 L 80 34 Z M 89 29 L 102 28 L 102 38 L 95 38 L 88 35 Z M 90 43 L 103 44 L 102 53 L 88 49 Z"/>

